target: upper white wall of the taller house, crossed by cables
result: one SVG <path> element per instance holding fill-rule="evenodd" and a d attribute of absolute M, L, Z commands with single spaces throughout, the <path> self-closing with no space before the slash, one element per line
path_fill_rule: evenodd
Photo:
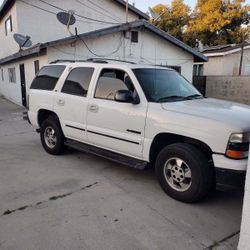
<path fill-rule="evenodd" d="M 92 9 L 83 6 L 78 1 L 84 3 L 87 6 L 90 6 Z M 26 0 L 25 2 L 31 3 L 33 5 L 39 6 L 43 9 L 55 13 L 61 12 L 61 10 L 48 6 L 47 4 L 44 4 L 38 0 Z M 98 13 L 102 13 L 105 11 L 98 9 L 96 6 L 91 5 L 87 0 L 47 0 L 47 2 L 55 6 L 60 6 L 60 8 L 65 10 L 74 10 L 77 14 L 82 16 L 116 23 L 103 24 L 76 17 L 77 22 L 71 27 L 71 30 L 72 32 L 74 32 L 74 28 L 77 27 L 78 34 L 125 22 L 125 7 L 123 8 L 120 4 L 117 4 L 115 1 L 112 0 L 94 0 L 93 2 L 102 6 L 102 8 L 106 9 L 106 11 L 111 12 L 112 14 L 106 13 L 106 15 L 111 15 L 111 17 L 115 20 Z M 95 10 L 97 10 L 98 12 L 96 12 Z M 44 43 L 69 36 L 66 27 L 59 23 L 56 18 L 56 15 L 36 9 L 20 1 L 17 1 L 17 19 L 19 22 L 18 32 L 31 36 L 33 44 Z M 137 19 L 137 15 L 132 12 L 129 12 L 129 21 L 134 21 Z"/>

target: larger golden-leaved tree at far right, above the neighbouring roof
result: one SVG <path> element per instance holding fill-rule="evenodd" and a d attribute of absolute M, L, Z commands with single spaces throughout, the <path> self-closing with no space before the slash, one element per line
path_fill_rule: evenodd
<path fill-rule="evenodd" d="M 193 43 L 195 37 L 206 45 L 239 42 L 242 25 L 249 23 L 249 6 L 244 0 L 198 0 L 193 11 L 185 40 Z"/>

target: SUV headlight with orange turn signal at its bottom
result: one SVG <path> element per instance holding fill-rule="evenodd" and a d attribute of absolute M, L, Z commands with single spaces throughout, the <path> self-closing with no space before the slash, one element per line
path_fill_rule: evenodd
<path fill-rule="evenodd" d="M 232 159 L 246 159 L 249 151 L 249 133 L 234 133 L 230 136 L 226 156 Z"/>

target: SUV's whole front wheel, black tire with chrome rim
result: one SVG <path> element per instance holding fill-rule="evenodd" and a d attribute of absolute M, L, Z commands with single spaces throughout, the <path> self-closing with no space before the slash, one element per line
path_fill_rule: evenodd
<path fill-rule="evenodd" d="M 193 203 L 214 188 L 214 168 L 196 147 L 177 143 L 162 149 L 155 163 L 156 176 L 163 190 L 172 198 Z"/>

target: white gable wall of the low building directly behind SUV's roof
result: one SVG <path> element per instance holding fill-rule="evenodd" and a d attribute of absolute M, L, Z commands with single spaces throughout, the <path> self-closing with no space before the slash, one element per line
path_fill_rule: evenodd
<path fill-rule="evenodd" d="M 129 36 L 129 33 L 127 33 Z M 131 43 L 130 39 L 122 38 L 122 46 L 114 52 L 121 43 L 121 34 L 102 36 L 101 38 L 85 39 L 88 46 L 100 57 L 128 60 L 141 64 L 157 64 L 163 66 L 181 66 L 182 75 L 192 81 L 193 56 L 177 46 L 159 38 L 153 33 L 140 31 L 139 43 Z M 108 56 L 105 56 L 108 55 Z M 57 59 L 85 60 L 95 58 L 82 42 L 48 48 L 49 62 Z"/>

